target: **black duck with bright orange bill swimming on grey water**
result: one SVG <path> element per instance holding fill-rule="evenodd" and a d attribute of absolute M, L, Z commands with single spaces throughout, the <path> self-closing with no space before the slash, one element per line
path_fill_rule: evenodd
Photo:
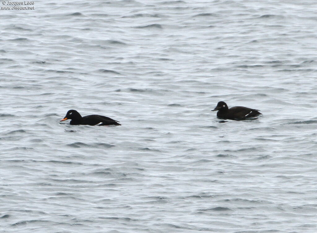
<path fill-rule="evenodd" d="M 64 120 L 71 120 L 69 123 L 71 125 L 90 125 L 90 126 L 94 126 L 94 125 L 120 126 L 121 125 L 119 123 L 119 121 L 113 120 L 113 119 L 106 117 L 106 116 L 88 115 L 88 116 L 82 117 L 81 114 L 79 114 L 79 112 L 77 112 L 76 110 L 73 110 L 73 109 L 68 110 L 68 112 L 66 113 L 66 116 L 60 121 L 64 121 Z"/>

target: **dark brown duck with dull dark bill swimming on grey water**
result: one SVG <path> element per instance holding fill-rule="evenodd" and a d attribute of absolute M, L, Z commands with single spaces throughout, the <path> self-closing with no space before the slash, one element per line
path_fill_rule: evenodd
<path fill-rule="evenodd" d="M 248 120 L 255 118 L 258 115 L 262 115 L 257 109 L 248 107 L 230 107 L 223 101 L 218 102 L 217 107 L 211 111 L 218 111 L 217 117 L 229 120 Z"/>

